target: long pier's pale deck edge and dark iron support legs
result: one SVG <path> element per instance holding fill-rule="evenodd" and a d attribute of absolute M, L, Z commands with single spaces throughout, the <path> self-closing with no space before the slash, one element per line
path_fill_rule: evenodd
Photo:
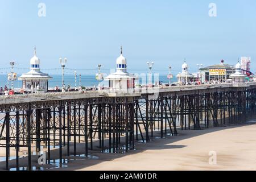
<path fill-rule="evenodd" d="M 79 143 L 86 157 L 93 143 L 102 153 L 129 152 L 136 142 L 154 140 L 155 131 L 164 138 L 175 137 L 178 129 L 243 123 L 255 104 L 256 82 L 1 96 L 0 147 L 6 150 L 6 170 L 32 170 L 32 156 L 36 152 L 38 158 L 42 146 L 47 163 L 52 148 L 58 148 L 62 163 L 63 151 L 76 156 Z M 15 164 L 10 163 L 11 148 Z M 20 165 L 20 148 L 26 148 L 26 166 Z"/>

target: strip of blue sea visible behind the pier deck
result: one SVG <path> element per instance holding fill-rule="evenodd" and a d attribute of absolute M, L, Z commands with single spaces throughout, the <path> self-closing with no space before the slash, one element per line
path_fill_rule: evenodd
<path fill-rule="evenodd" d="M 20 75 L 18 75 L 19 77 Z M 48 87 L 55 88 L 55 86 L 62 86 L 62 75 L 50 75 L 52 77 L 51 80 L 48 82 Z M 77 86 L 79 86 L 79 76 L 77 76 Z M 154 76 L 152 78 L 154 80 Z M 159 81 L 163 82 L 164 84 L 168 84 L 169 80 L 167 78 L 167 75 L 159 75 Z M 172 82 L 176 82 L 176 78 L 172 80 Z M 154 81 L 155 82 L 155 81 Z M 75 76 L 74 75 L 65 75 L 64 76 L 64 83 L 66 86 L 70 85 L 72 88 L 75 87 Z M 142 79 L 140 78 L 140 84 L 142 83 Z M 2 86 L 3 88 L 5 85 L 7 86 L 7 75 L 1 74 L 0 75 L 0 87 Z M 101 85 L 108 86 L 108 82 L 102 81 Z M 98 85 L 98 80 L 96 80 L 95 75 L 81 75 L 81 85 L 85 87 L 93 87 L 94 85 Z M 11 81 L 9 82 L 9 88 L 11 88 Z M 22 88 L 22 81 L 16 80 L 14 81 L 14 88 Z"/>

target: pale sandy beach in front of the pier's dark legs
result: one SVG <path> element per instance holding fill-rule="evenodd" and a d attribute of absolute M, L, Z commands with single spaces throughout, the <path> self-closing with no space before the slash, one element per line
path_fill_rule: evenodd
<path fill-rule="evenodd" d="M 255 124 L 179 131 L 177 137 L 136 143 L 136 150 L 127 154 L 101 154 L 94 143 L 94 151 L 89 153 L 98 159 L 72 160 L 66 168 L 55 170 L 256 170 L 255 133 Z M 3 154 L 4 148 L 0 150 Z M 216 165 L 209 164 L 210 151 L 217 154 Z M 84 143 L 78 144 L 77 154 L 83 153 Z M 56 159 L 57 154 L 57 150 L 51 152 Z M 26 162 L 22 159 L 20 165 Z M 14 164 L 15 160 L 10 162 L 10 166 Z M 0 163 L 1 169 L 4 166 L 4 162 Z"/>

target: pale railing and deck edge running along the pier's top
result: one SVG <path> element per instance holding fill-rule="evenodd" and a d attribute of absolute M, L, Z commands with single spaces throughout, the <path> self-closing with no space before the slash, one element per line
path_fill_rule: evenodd
<path fill-rule="evenodd" d="M 76 98 L 94 97 L 138 97 L 141 94 L 180 92 L 184 90 L 201 90 L 216 88 L 237 88 L 256 86 L 256 82 L 246 83 L 222 83 L 222 84 L 203 84 L 203 85 L 183 85 L 183 86 L 156 86 L 147 88 L 135 88 L 134 90 L 86 90 L 76 92 L 51 92 L 51 93 L 30 93 L 0 96 L 1 104 L 13 104 L 16 102 L 44 101 L 44 100 L 66 100 Z"/>

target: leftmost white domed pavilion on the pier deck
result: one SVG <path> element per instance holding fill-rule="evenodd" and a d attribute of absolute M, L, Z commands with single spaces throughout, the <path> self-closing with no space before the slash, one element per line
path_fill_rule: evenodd
<path fill-rule="evenodd" d="M 24 90 L 30 90 L 32 88 L 39 88 L 40 90 L 48 91 L 48 80 L 50 80 L 48 74 L 40 71 L 40 59 L 36 56 L 36 48 L 34 56 L 30 59 L 30 72 L 24 73 L 19 77 L 22 80 L 22 88 Z"/>

